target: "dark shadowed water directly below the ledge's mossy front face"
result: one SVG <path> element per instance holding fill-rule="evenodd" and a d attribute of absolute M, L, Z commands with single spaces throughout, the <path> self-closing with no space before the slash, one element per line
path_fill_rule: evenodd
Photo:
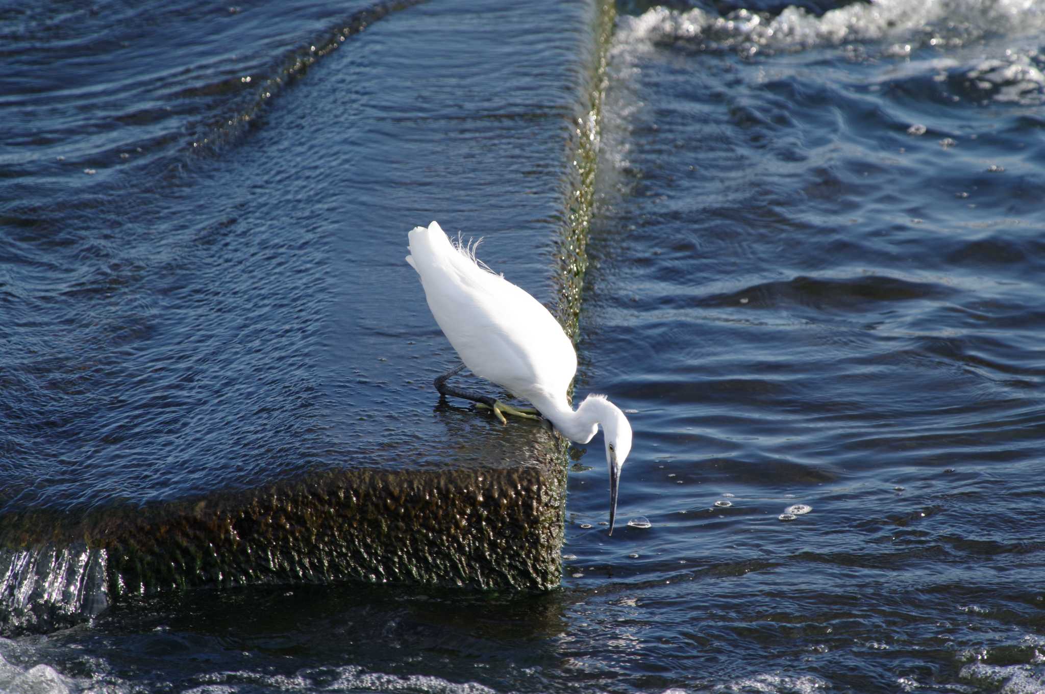
<path fill-rule="evenodd" d="M 70 678 L 150 691 L 506 691 L 558 668 L 567 604 L 335 585 L 196 592 L 126 603 L 44 647 Z M 104 673 L 84 649 L 112 654 Z"/>

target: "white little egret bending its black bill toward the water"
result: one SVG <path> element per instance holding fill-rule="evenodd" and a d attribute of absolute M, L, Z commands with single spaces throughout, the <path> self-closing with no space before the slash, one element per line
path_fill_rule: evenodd
<path fill-rule="evenodd" d="M 566 389 L 577 372 L 577 353 L 562 327 L 540 302 L 475 260 L 474 248 L 450 243 L 432 222 L 410 232 L 407 262 L 421 276 L 428 308 L 464 363 L 436 379 L 442 396 L 455 396 L 504 413 L 535 417 L 539 412 L 566 438 L 587 444 L 602 425 L 609 468 L 609 534 L 617 516 L 621 468 L 631 451 L 631 425 L 624 412 L 591 394 L 575 411 Z M 446 379 L 465 366 L 530 401 L 518 410 L 487 396 L 451 388 Z"/>

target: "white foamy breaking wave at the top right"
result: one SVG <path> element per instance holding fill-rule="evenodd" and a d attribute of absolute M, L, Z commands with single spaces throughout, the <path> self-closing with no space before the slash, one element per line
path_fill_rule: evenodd
<path fill-rule="evenodd" d="M 901 68 L 900 79 L 913 80 L 920 98 L 986 103 L 1045 103 L 1045 55 L 1037 44 L 1045 30 L 1045 6 L 1034 0 L 879 0 L 854 3 L 815 16 L 789 6 L 779 15 L 737 9 L 725 16 L 700 8 L 680 11 L 654 7 L 622 18 L 614 57 L 672 46 L 695 52 L 732 51 L 750 58 L 760 53 L 844 47 L 851 59 L 868 55 L 928 58 Z M 965 59 L 945 55 L 1004 37 L 996 54 Z M 625 59 L 627 63 L 627 59 Z M 898 77 L 889 74 L 891 82 Z M 903 89 L 903 87 L 901 87 Z"/>

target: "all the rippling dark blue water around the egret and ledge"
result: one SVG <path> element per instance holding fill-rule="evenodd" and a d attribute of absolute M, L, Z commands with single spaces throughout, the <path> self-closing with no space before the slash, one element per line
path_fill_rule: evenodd
<path fill-rule="evenodd" d="M 620 514 L 636 522 L 605 534 L 601 445 L 578 448 L 561 591 L 327 585 L 142 599 L 88 624 L 0 641 L 0 690 L 1045 691 L 1045 8 L 910 5 L 857 3 L 820 17 L 740 5 L 727 16 L 709 6 L 619 8 L 577 388 L 633 410 Z M 431 391 L 404 382 L 417 362 L 419 381 L 443 365 L 428 363 L 425 350 L 447 348 L 423 311 L 390 309 L 389 328 L 361 348 L 375 358 L 355 386 L 331 375 L 331 336 L 353 320 L 377 325 L 385 308 L 374 297 L 349 317 L 334 308 L 345 302 L 331 297 L 358 295 L 358 276 L 338 258 L 362 248 L 361 238 L 380 239 L 366 262 L 369 277 L 388 278 L 388 294 L 415 282 L 409 268 L 393 274 L 410 225 L 452 214 L 478 233 L 511 229 L 509 218 L 538 238 L 491 234 L 480 256 L 538 295 L 551 291 L 553 240 L 541 220 L 556 214 L 548 191 L 559 185 L 549 178 L 561 145 L 484 125 L 529 119 L 557 133 L 575 96 L 553 99 L 551 85 L 565 80 L 538 72 L 536 56 L 547 50 L 566 64 L 570 47 L 585 44 L 589 15 L 548 7 L 506 17 L 438 3 L 397 10 L 280 91 L 246 133 L 212 147 L 228 114 L 253 107 L 254 92 L 236 80 L 283 74 L 353 8 L 192 9 L 131 11 L 119 22 L 55 9 L 42 27 L 4 15 L 22 31 L 5 35 L 31 39 L 3 58 L 14 74 L 4 120 L 17 135 L 0 160 L 8 200 L 0 310 L 23 293 L 65 296 L 55 278 L 73 292 L 68 305 L 39 300 L 50 322 L 31 325 L 29 307 L 17 332 L 7 320 L 0 327 L 5 346 L 43 355 L 0 357 L 3 416 L 17 433 L 4 438 L 5 464 L 30 454 L 53 476 L 34 485 L 27 475 L 0 492 L 8 503 L 131 494 L 107 492 L 100 476 L 62 478 L 47 462 L 89 445 L 120 469 L 136 446 L 161 441 L 173 450 L 157 474 L 170 482 L 147 488 L 206 486 L 215 460 L 240 460 L 233 444 L 207 435 L 213 417 L 246 422 L 234 446 L 258 462 L 241 480 L 268 465 L 293 472 L 309 456 L 327 464 L 324 451 L 349 449 L 357 431 L 336 427 L 352 409 L 327 391 L 356 405 L 409 406 L 379 412 L 382 428 L 442 426 L 447 415 L 432 412 Z M 236 18 L 250 21 L 230 25 Z M 433 26 L 462 33 L 427 63 L 403 52 Z M 201 43 L 183 53 L 175 38 L 186 34 Z M 526 41 L 513 45 L 519 34 Z M 72 88 L 36 69 L 30 57 L 45 37 L 68 51 L 66 69 L 83 68 L 67 75 L 79 91 L 66 93 Z M 469 42 L 492 50 L 489 37 L 524 68 L 484 76 L 462 72 L 474 59 L 452 70 L 440 62 Z M 114 61 L 120 48 L 141 53 Z M 196 72 L 179 72 L 172 55 Z M 394 69 L 384 67 L 393 58 Z M 435 85 L 432 103 L 457 96 L 460 113 L 479 116 L 460 128 L 416 130 L 418 159 L 397 159 L 389 123 L 452 123 L 457 114 L 401 115 L 410 93 L 389 88 L 390 75 L 416 89 Z M 186 82 L 222 87 L 184 93 Z M 113 94 L 125 98 L 107 105 Z M 505 100 L 527 109 L 502 110 Z M 327 102 L 344 115 L 309 117 L 327 113 Z M 116 117 L 133 127 L 109 125 Z M 184 154 L 204 139 L 204 157 Z M 382 157 L 389 151 L 397 153 Z M 447 163 L 454 175 L 396 186 L 416 161 Z M 137 168 L 110 170 L 120 167 Z M 368 182 L 386 196 L 363 195 Z M 338 194 L 339 184 L 350 193 Z M 446 191 L 449 212 L 439 209 Z M 516 210 L 520 200 L 532 206 Z M 380 234 L 338 234 L 346 216 Z M 75 233 L 106 224 L 134 233 Z M 195 246 L 185 239 L 195 238 L 223 252 L 187 252 Z M 273 255 L 292 246 L 298 253 Z M 194 289 L 157 289 L 187 274 Z M 272 278 L 280 284 L 266 293 Z M 33 293 L 33 282 L 46 291 Z M 148 291 L 132 290 L 136 282 Z M 170 314 L 193 315 L 193 292 L 200 306 L 218 303 L 207 313 L 212 324 Z M 122 298 L 95 298 L 107 294 Z M 242 308 L 245 296 L 257 305 Z M 162 330 L 164 321 L 177 330 Z M 250 349 L 231 350 L 237 337 Z M 408 340 L 415 344 L 395 348 Z M 61 358 L 79 355 L 80 344 L 96 355 L 86 368 Z M 418 358 L 384 365 L 376 357 L 386 348 Z M 164 362 L 172 379 L 192 379 L 177 390 L 185 402 L 148 401 L 159 378 L 148 365 L 164 350 L 189 356 Z M 292 363 L 278 361 L 287 354 Z M 280 378 L 218 397 L 215 379 L 252 368 L 278 368 Z M 303 397 L 309 388 L 324 397 Z M 122 404 L 129 390 L 144 400 Z M 99 410 L 99 399 L 112 406 Z M 276 406 L 260 411 L 264 403 Z M 198 409 L 199 420 L 186 421 Z M 142 410 L 141 423 L 113 414 Z M 41 411 L 33 427 L 18 424 Z M 92 444 L 107 417 L 130 444 Z M 327 427 L 348 433 L 331 446 Z"/>

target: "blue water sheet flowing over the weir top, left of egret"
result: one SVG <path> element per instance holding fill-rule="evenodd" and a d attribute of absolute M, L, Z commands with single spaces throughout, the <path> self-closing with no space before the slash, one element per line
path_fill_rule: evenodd
<path fill-rule="evenodd" d="M 442 464 L 419 442 L 446 438 L 428 384 L 455 361 L 401 271 L 403 225 L 500 232 L 500 259 L 548 296 L 590 14 L 542 19 L 574 24 L 547 37 L 500 7 L 13 10 L 0 508 Z M 442 39 L 419 63 L 425 32 Z M 64 81 L 41 79 L 65 33 Z M 497 80 L 515 96 L 493 100 Z M 491 181 L 498 159 L 514 174 Z"/>

